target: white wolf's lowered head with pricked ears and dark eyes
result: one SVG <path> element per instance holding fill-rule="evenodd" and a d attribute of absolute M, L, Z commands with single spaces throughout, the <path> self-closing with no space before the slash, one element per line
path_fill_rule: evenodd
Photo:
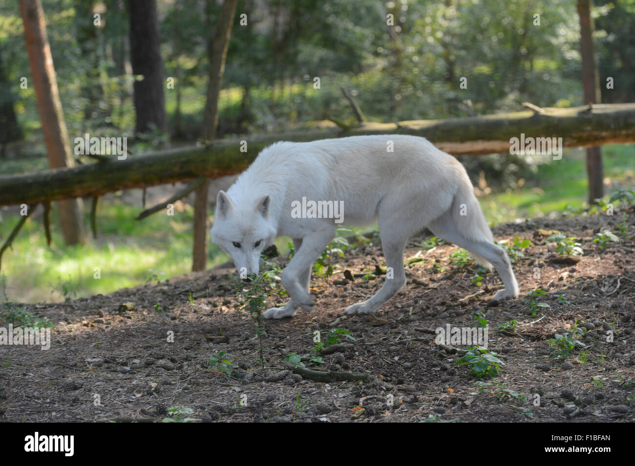
<path fill-rule="evenodd" d="M 260 252 L 276 239 L 269 223 L 271 198 L 265 195 L 255 204 L 235 205 L 225 191 L 218 191 L 211 241 L 232 256 L 241 278 L 258 273 Z"/>

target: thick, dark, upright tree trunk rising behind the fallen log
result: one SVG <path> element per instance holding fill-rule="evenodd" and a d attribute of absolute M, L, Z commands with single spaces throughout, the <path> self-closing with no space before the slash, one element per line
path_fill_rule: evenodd
<path fill-rule="evenodd" d="M 130 56 L 132 72 L 143 79 L 135 80 L 135 110 L 137 133 L 147 133 L 156 127 L 167 131 L 165 86 L 161 36 L 156 0 L 128 0 L 130 16 Z"/>

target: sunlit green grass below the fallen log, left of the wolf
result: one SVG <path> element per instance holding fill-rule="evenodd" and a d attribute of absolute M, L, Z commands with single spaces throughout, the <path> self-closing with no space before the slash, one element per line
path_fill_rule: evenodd
<path fill-rule="evenodd" d="M 189 272 L 192 209 L 175 212 L 174 216 L 157 212 L 135 222 L 139 210 L 117 200 L 102 202 L 98 209 L 98 239 L 74 247 L 64 247 L 55 210 L 51 216 L 51 248 L 46 245 L 41 223 L 29 219 L 12 249 L 3 255 L 8 295 L 20 302 L 60 301 L 65 296 L 105 294 Z M 18 216 L 3 215 L 3 240 L 17 221 Z M 225 260 L 218 256 L 215 245 L 210 245 L 209 254 L 210 266 Z M 100 269 L 99 279 L 93 278 L 95 268 Z"/>

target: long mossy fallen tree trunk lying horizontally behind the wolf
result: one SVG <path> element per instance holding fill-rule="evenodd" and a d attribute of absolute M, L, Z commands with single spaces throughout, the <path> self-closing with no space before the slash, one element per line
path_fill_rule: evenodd
<path fill-rule="evenodd" d="M 97 162 L 68 169 L 0 176 L 0 205 L 36 204 L 46 200 L 95 197 L 112 191 L 219 178 L 243 171 L 258 152 L 276 141 L 314 141 L 364 134 L 423 136 L 453 155 L 509 152 L 509 139 L 521 133 L 534 138 L 563 138 L 563 146 L 598 146 L 635 141 L 635 103 L 592 107 L 531 108 L 448 120 L 364 123 L 351 129 L 295 131 L 222 140 L 209 146 L 178 148 L 124 160 Z"/>

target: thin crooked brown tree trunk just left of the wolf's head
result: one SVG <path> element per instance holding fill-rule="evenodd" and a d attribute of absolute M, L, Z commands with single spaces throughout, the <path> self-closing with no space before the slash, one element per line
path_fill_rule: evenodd
<path fill-rule="evenodd" d="M 237 0 L 225 0 L 213 40 L 208 43 L 210 80 L 203 117 L 203 139 L 213 141 L 218 126 L 218 96 L 225 71 L 225 58 L 229 47 Z M 194 245 L 192 247 L 192 271 L 201 271 L 207 264 L 207 197 L 210 182 L 205 181 L 196 190 L 194 200 Z"/>

